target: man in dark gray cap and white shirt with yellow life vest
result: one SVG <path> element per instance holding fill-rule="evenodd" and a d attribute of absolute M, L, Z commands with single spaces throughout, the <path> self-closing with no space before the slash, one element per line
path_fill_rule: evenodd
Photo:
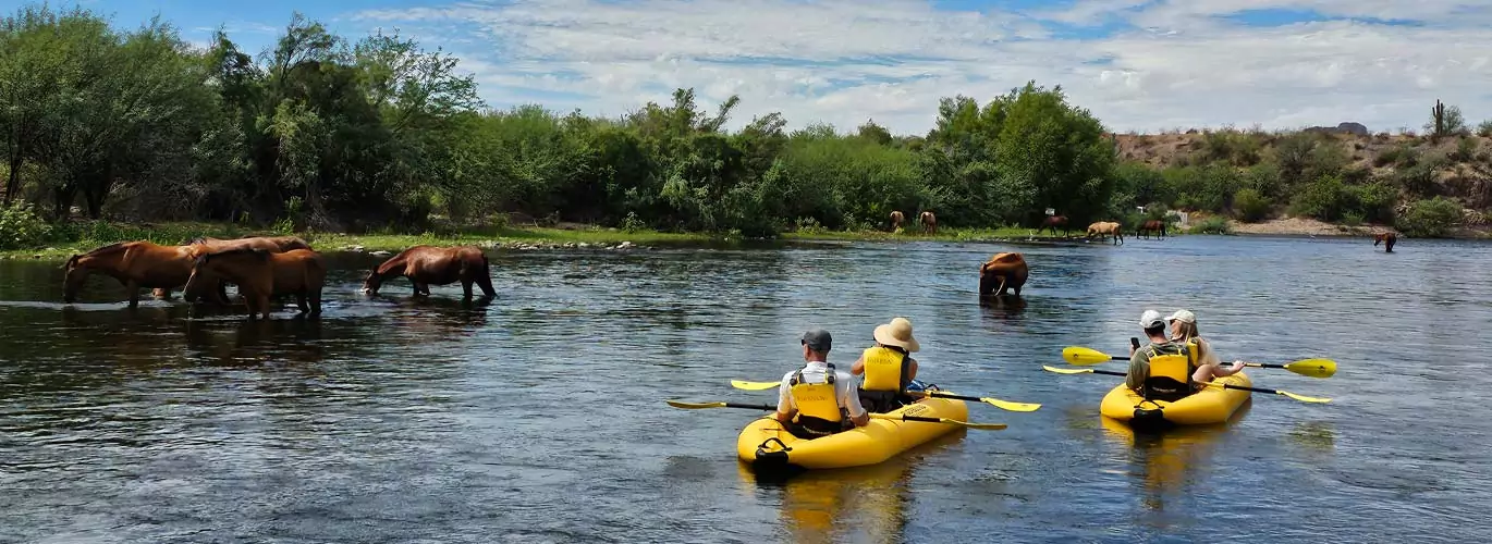
<path fill-rule="evenodd" d="M 782 376 L 777 386 L 777 420 L 803 438 L 827 437 L 870 423 L 870 413 L 859 405 L 855 377 L 828 364 L 833 338 L 825 329 L 812 329 L 803 344 L 803 368 Z M 844 416 L 849 417 L 844 417 Z"/>

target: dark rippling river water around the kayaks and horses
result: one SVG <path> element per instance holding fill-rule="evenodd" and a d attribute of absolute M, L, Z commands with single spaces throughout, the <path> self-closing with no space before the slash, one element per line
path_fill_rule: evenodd
<path fill-rule="evenodd" d="M 1021 250 L 1021 304 L 977 267 Z M 0 262 L 0 541 L 1395 543 L 1486 541 L 1492 246 L 1129 238 L 1122 246 L 818 243 L 492 253 L 498 297 L 357 292 L 328 255 L 321 319 L 270 322 Z M 1252 370 L 1228 428 L 1134 437 L 1118 380 L 1058 376 L 1064 346 L 1126 353 L 1144 309 L 1198 314 Z M 971 404 L 956 431 L 868 469 L 758 481 L 736 461 L 798 335 L 849 364 L 907 316 L 919 379 L 1041 402 Z M 1103 365 L 1123 370 L 1122 364 Z"/>

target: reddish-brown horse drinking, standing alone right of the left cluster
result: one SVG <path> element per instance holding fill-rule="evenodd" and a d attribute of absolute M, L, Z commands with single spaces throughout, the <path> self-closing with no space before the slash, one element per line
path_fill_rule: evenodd
<path fill-rule="evenodd" d="M 436 247 L 415 246 L 391 256 L 377 265 L 363 280 L 363 292 L 377 295 L 385 279 L 404 276 L 415 288 L 415 295 L 430 295 L 430 285 L 461 282 L 466 297 L 471 297 L 471 283 L 482 288 L 483 297 L 495 297 L 491 265 L 486 253 L 476 246 Z"/>

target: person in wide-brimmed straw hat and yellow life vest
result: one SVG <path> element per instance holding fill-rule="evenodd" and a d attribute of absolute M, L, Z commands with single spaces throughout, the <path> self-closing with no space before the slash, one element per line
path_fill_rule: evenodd
<path fill-rule="evenodd" d="M 912 322 L 907 317 L 876 326 L 874 338 L 876 346 L 867 347 L 855 359 L 850 374 L 864 376 L 859 402 L 865 410 L 886 413 L 913 401 L 906 390 L 918 377 L 918 361 L 910 353 L 921 346 L 912 337 Z"/>

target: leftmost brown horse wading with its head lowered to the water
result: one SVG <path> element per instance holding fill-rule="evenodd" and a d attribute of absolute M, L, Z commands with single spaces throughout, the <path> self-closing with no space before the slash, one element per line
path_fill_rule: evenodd
<path fill-rule="evenodd" d="M 113 277 L 130 292 L 130 307 L 140 303 L 140 288 L 175 289 L 191 277 L 191 246 L 161 246 L 151 241 L 122 241 L 103 246 L 67 259 L 63 280 L 63 303 L 78 298 L 88 274 L 97 271 Z"/>

